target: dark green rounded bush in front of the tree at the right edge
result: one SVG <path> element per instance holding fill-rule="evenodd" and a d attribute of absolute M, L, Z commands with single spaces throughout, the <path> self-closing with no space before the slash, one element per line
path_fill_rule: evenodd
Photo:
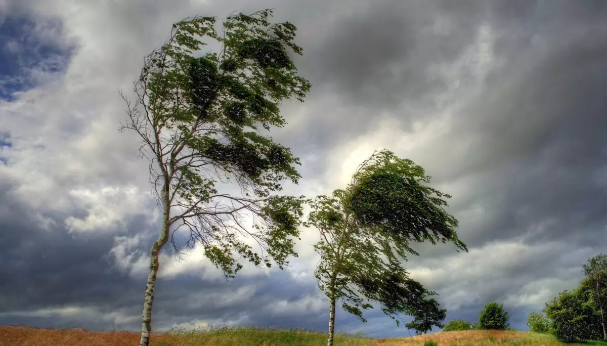
<path fill-rule="evenodd" d="M 600 338 L 600 317 L 588 294 L 565 290 L 546 304 L 546 316 L 552 320 L 553 333 L 562 342 L 583 342 Z"/>

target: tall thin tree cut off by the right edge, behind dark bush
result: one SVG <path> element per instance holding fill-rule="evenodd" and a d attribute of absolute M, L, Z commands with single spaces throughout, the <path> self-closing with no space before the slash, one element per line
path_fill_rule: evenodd
<path fill-rule="evenodd" d="M 601 316 L 603 341 L 607 341 L 607 321 L 605 319 L 605 310 L 607 310 L 607 287 L 605 285 L 607 282 L 607 255 L 598 254 L 591 257 L 588 259 L 588 263 L 583 264 L 582 267 L 588 279 L 586 287 L 591 288 L 592 304 Z"/>

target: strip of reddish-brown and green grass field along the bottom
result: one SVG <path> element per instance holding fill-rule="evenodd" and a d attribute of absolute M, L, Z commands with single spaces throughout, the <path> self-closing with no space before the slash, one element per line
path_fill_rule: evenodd
<path fill-rule="evenodd" d="M 370 339 L 339 335 L 335 338 L 335 346 L 424 346 L 426 340 L 436 341 L 439 346 L 565 345 L 558 342 L 553 336 L 544 334 L 523 331 L 470 330 L 395 339 Z M 135 346 L 138 343 L 139 334 L 137 333 L 0 326 L 0 346 Z M 177 331 L 154 334 L 151 338 L 152 346 L 321 346 L 326 344 L 326 335 L 322 333 L 257 328 Z M 607 346 L 607 343 L 592 341 L 584 345 Z"/>

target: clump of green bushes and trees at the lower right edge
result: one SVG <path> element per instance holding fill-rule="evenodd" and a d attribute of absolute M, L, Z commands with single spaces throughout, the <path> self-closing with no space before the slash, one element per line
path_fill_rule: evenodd
<path fill-rule="evenodd" d="M 546 303 L 543 314 L 531 313 L 531 331 L 551 333 L 562 342 L 607 341 L 607 255 L 598 254 L 583 265 L 584 279 Z"/>

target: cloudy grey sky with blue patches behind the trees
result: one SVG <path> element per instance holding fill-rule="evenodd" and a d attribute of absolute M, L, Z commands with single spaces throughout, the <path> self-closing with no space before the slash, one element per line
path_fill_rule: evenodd
<path fill-rule="evenodd" d="M 272 132 L 302 162 L 285 192 L 330 194 L 376 149 L 425 168 L 469 248 L 415 245 L 406 263 L 446 321 L 495 301 L 528 330 L 607 252 L 605 1 L 0 0 L 0 324 L 141 328 L 160 213 L 118 90 L 173 22 L 262 8 L 298 27 L 313 84 Z M 317 237 L 302 229 L 284 271 L 229 282 L 198 248 L 164 251 L 152 327 L 325 331 Z M 409 335 L 365 316 L 338 310 L 336 330 Z"/>

